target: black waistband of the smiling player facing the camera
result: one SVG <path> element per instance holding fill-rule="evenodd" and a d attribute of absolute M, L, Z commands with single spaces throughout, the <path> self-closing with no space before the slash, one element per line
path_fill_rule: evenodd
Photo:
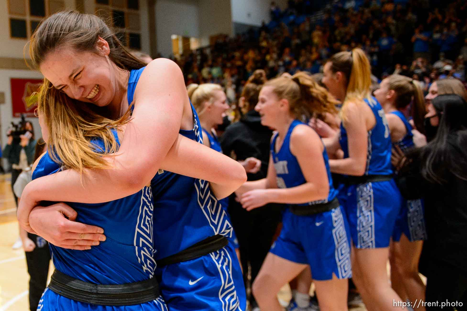
<path fill-rule="evenodd" d="M 228 244 L 225 236 L 217 234 L 210 236 L 183 251 L 157 261 L 157 267 L 163 267 L 177 262 L 186 262 L 209 253 L 215 252 Z"/>

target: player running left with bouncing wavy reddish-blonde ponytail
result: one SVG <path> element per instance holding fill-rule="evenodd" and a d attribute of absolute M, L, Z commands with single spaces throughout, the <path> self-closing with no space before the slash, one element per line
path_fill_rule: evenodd
<path fill-rule="evenodd" d="M 261 123 L 277 131 L 271 140 L 268 175 L 245 183 L 236 193 L 247 210 L 271 202 L 288 204 L 281 234 L 253 283 L 261 310 L 283 310 L 277 292 L 307 265 L 320 310 L 347 310 L 351 276 L 347 220 L 336 198 L 323 142 L 298 120 L 304 114 L 334 113 L 335 104 L 304 72 L 270 80 L 260 92 L 255 109 Z"/>

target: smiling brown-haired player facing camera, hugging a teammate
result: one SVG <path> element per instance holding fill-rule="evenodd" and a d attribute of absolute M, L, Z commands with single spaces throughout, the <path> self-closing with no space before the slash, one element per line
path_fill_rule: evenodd
<path fill-rule="evenodd" d="M 218 237 L 229 224 L 217 217 L 217 198 L 238 188 L 245 170 L 200 144 L 198 116 L 178 66 L 156 59 L 144 67 L 99 17 L 78 12 L 43 21 L 31 39 L 30 54 L 50 89 L 96 106 L 111 120 L 130 113 L 130 103 L 134 109 L 118 153 L 99 158 L 106 170 L 59 171 L 25 188 L 22 226 L 33 231 L 29 212 L 41 200 L 103 203 L 141 191 L 150 181 L 155 205 L 151 239 L 160 262 L 155 275 L 171 310 L 244 310 L 240 266 L 231 260 L 233 248 L 223 247 L 225 238 Z M 66 125 L 57 116 L 54 122 Z M 57 211 L 76 214 L 60 204 L 30 215 L 35 230 L 54 245 L 85 249 L 101 236 L 95 233 L 103 233 Z"/>

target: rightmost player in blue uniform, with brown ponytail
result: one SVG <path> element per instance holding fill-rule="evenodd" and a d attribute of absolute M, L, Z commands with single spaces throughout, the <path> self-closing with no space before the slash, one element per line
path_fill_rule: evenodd
<path fill-rule="evenodd" d="M 424 133 L 425 99 L 417 81 L 391 75 L 382 80 L 380 88 L 375 91 L 375 98 L 386 113 L 394 148 L 400 148 L 404 153 L 413 148 L 412 126 L 403 111 L 412 103 L 412 120 Z M 424 202 L 421 199 L 404 199 L 396 221 L 389 252 L 391 285 L 403 301 L 409 299 L 415 302 L 425 297 L 425 284 L 418 275 L 423 240 L 427 238 L 424 214 Z M 425 310 L 425 307 L 417 310 Z"/>

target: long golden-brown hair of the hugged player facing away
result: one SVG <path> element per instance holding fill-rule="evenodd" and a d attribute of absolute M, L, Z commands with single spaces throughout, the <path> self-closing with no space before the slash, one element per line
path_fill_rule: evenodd
<path fill-rule="evenodd" d="M 131 110 L 128 109 L 118 120 L 110 120 L 94 112 L 90 105 L 71 99 L 47 79 L 39 89 L 37 110 L 49 130 L 47 150 L 52 160 L 64 170 L 77 170 L 82 174 L 85 168 L 111 167 L 102 154 L 117 151 L 118 144 L 112 129 L 127 123 Z M 90 142 L 92 139 L 101 139 L 104 148 L 96 148 Z"/>

